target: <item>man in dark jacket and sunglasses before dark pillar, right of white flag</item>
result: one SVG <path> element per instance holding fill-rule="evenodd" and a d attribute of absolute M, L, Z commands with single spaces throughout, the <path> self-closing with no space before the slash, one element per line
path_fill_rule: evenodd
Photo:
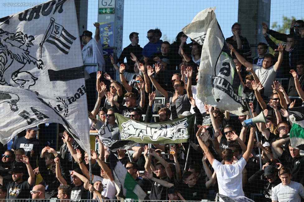
<path fill-rule="evenodd" d="M 247 38 L 241 36 L 241 24 L 235 23 L 231 27 L 233 36 L 226 38 L 226 43 L 231 44 L 243 57 L 251 56 L 251 47 Z"/>

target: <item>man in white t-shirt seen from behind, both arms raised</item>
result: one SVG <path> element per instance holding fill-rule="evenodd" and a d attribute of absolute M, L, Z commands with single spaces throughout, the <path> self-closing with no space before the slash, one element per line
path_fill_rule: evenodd
<path fill-rule="evenodd" d="M 222 158 L 225 161 L 225 164 L 217 161 L 204 141 L 202 141 L 201 133 L 203 126 L 199 126 L 196 137 L 198 139 L 199 145 L 204 150 L 212 168 L 216 172 L 219 193 L 225 196 L 229 196 L 232 199 L 235 199 L 238 196 L 244 196 L 243 186 L 242 186 L 242 171 L 245 168 L 245 165 L 251 154 L 253 144 L 254 144 L 254 133 L 256 128 L 250 128 L 250 136 L 248 140 L 248 147 L 243 157 L 240 160 L 237 160 L 233 156 L 233 151 L 229 148 L 222 151 Z M 216 131 L 218 133 L 218 131 Z M 228 133 L 229 134 L 229 133 Z M 203 134 L 207 135 L 206 133 Z M 237 161 L 237 162 L 236 162 Z M 220 199 L 221 201 L 221 199 Z"/>

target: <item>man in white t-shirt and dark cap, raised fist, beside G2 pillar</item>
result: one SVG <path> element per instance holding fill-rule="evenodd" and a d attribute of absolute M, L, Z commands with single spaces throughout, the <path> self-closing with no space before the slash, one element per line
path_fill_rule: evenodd
<path fill-rule="evenodd" d="M 105 60 L 103 58 L 102 50 L 102 40 L 100 40 L 100 29 L 99 23 L 95 22 L 94 27 L 95 36 L 92 38 L 93 33 L 85 30 L 83 31 L 82 41 L 85 46 L 83 47 L 81 53 L 84 64 L 89 63 L 98 63 L 98 71 L 105 72 Z M 96 97 L 96 66 L 85 66 L 85 78 L 86 78 L 86 90 L 87 90 L 87 101 L 88 101 L 88 110 L 92 111 L 95 106 Z M 102 77 L 103 78 L 103 77 Z"/>

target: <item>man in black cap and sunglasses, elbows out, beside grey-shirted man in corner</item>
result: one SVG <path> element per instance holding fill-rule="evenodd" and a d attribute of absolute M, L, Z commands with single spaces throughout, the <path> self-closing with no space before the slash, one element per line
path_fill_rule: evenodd
<path fill-rule="evenodd" d="M 264 173 L 264 178 L 261 175 Z M 257 171 L 253 176 L 248 179 L 249 183 L 254 184 L 256 187 L 263 187 L 263 201 L 271 202 L 272 191 L 275 186 L 280 184 L 281 180 L 278 177 L 278 169 L 268 163 L 263 165 L 262 170 Z"/>

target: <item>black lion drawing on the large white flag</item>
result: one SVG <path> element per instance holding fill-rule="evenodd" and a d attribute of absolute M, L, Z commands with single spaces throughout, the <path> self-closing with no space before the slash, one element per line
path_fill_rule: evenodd
<path fill-rule="evenodd" d="M 37 77 L 29 71 L 21 71 L 31 62 L 42 70 L 43 61 L 30 55 L 28 48 L 33 46 L 34 36 L 22 32 L 9 33 L 0 29 L 0 84 L 29 89 L 34 86 Z M 16 71 L 9 71 L 13 68 Z M 8 71 L 7 71 L 8 70 Z M 6 72 L 7 71 L 7 72 Z M 12 72 L 12 74 L 10 74 Z M 8 81 L 12 79 L 12 81 Z M 16 85 L 17 84 L 17 85 Z"/>

